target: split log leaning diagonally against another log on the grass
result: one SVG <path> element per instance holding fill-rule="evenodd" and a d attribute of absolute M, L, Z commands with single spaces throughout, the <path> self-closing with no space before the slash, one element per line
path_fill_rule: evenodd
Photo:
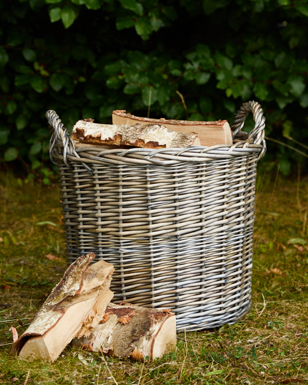
<path fill-rule="evenodd" d="M 65 271 L 27 330 L 14 342 L 13 353 L 53 362 L 72 339 L 94 328 L 113 297 L 109 289 L 113 265 L 95 254 L 79 257 Z M 84 327 L 83 325 L 86 325 Z"/>

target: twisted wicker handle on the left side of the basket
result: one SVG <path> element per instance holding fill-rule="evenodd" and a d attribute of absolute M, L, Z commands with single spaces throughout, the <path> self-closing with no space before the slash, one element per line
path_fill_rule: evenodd
<path fill-rule="evenodd" d="M 77 154 L 75 150 L 75 146 L 73 143 L 73 140 L 71 136 L 67 133 L 67 129 L 64 127 L 63 123 L 61 122 L 61 119 L 57 115 L 57 113 L 54 110 L 49 110 L 45 114 L 48 125 L 52 130 L 52 134 L 49 141 L 49 156 L 52 162 L 57 163 L 56 161 L 56 147 L 63 147 L 63 162 L 65 165 L 70 168 L 70 165 L 67 161 L 67 154 L 74 154 L 77 156 L 77 158 L 80 158 L 79 154 Z M 86 165 L 85 163 L 82 163 L 84 167 L 92 172 L 92 169 Z"/>

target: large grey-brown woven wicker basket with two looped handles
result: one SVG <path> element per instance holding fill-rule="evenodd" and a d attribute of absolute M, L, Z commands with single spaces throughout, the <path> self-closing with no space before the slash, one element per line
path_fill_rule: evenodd
<path fill-rule="evenodd" d="M 46 116 L 70 262 L 93 251 L 112 263 L 115 302 L 171 308 L 177 330 L 247 313 L 256 166 L 266 151 L 257 102 L 242 105 L 225 147 L 75 149 L 58 115 Z"/>

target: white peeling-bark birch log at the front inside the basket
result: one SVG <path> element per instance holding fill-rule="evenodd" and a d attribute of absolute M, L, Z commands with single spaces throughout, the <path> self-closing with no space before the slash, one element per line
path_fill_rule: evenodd
<path fill-rule="evenodd" d="M 133 146 L 153 149 L 200 145 L 196 133 L 176 132 L 167 129 L 163 124 L 156 123 L 111 125 L 78 120 L 73 127 L 72 138 L 81 143 L 92 145 Z"/>

